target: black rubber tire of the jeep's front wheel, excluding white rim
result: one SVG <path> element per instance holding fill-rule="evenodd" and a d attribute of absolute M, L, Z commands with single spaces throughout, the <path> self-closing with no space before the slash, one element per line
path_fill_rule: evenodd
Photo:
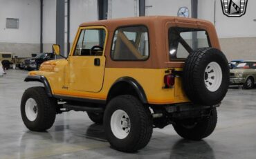
<path fill-rule="evenodd" d="M 32 98 L 37 104 L 37 117 L 30 121 L 26 115 L 25 106 L 28 99 Z M 56 116 L 57 100 L 48 97 L 44 87 L 37 86 L 26 89 L 21 98 L 21 117 L 31 131 L 46 131 L 53 126 Z"/>

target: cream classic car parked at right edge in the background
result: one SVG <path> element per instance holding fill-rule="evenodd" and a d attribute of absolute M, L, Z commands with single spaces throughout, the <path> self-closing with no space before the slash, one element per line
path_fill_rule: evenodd
<path fill-rule="evenodd" d="M 256 60 L 239 62 L 230 70 L 230 84 L 243 84 L 244 88 L 253 88 L 256 82 Z"/>

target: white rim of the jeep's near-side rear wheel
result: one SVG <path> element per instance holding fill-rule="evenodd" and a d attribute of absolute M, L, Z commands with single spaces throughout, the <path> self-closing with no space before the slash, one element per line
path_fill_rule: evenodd
<path fill-rule="evenodd" d="M 120 109 L 116 110 L 111 115 L 110 127 L 113 135 L 115 135 L 116 138 L 126 138 L 131 129 L 131 122 L 127 113 Z"/>

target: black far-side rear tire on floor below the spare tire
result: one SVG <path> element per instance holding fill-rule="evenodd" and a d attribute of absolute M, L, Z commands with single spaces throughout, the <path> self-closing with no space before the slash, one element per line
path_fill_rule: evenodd
<path fill-rule="evenodd" d="M 189 123 L 189 124 L 188 124 Z M 208 118 L 200 120 L 180 120 L 173 124 L 173 127 L 182 138 L 188 140 L 201 140 L 210 135 L 217 124 L 217 110 L 212 109 Z"/>

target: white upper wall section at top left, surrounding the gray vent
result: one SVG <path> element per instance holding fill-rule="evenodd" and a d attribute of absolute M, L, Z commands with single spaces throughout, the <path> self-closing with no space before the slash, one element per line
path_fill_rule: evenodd
<path fill-rule="evenodd" d="M 0 0 L 0 42 L 38 44 L 39 0 Z M 6 18 L 19 19 L 19 29 L 6 28 Z"/>

